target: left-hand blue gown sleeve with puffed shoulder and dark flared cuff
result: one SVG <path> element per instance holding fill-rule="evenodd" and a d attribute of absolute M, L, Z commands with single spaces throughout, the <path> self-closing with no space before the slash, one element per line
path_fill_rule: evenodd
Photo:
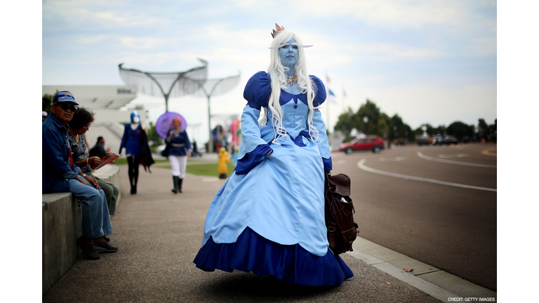
<path fill-rule="evenodd" d="M 261 135 L 260 126 L 258 126 L 260 109 L 267 107 L 271 93 L 270 75 L 266 72 L 256 73 L 245 86 L 244 98 L 247 100 L 247 105 L 241 114 L 237 175 L 246 175 L 265 159 L 267 153 L 272 152 L 272 148 L 267 144 L 267 138 Z"/>

